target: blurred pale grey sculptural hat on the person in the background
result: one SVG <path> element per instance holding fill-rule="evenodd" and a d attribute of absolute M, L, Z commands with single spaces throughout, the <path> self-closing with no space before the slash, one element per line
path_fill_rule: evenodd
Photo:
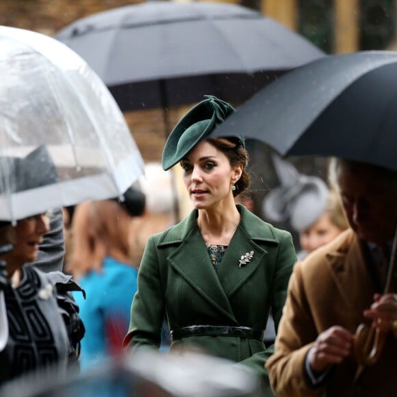
<path fill-rule="evenodd" d="M 271 222 L 290 220 L 296 231 L 303 231 L 326 209 L 329 196 L 326 183 L 318 177 L 300 174 L 279 156 L 273 156 L 273 163 L 281 185 L 266 195 L 263 212 Z"/>

